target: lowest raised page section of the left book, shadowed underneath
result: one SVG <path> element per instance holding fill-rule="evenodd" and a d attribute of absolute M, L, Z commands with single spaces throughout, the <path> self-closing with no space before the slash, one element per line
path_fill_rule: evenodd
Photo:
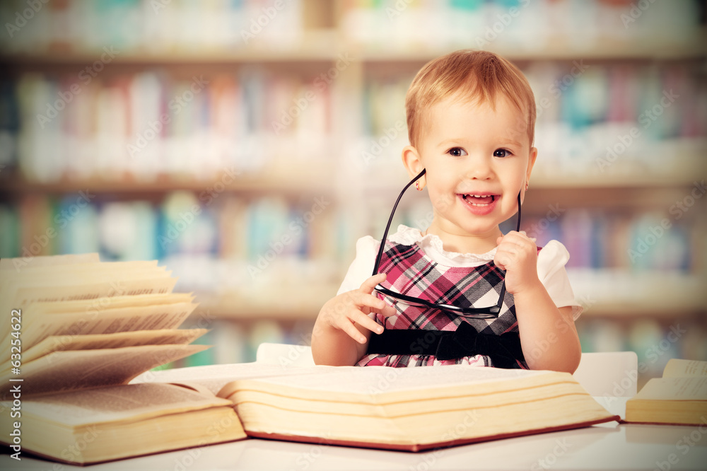
<path fill-rule="evenodd" d="M 99 386 L 127 384 L 156 366 L 209 348 L 206 345 L 142 345 L 119 349 L 55 351 L 23 364 L 18 375 L 0 377 L 0 393 L 11 386 L 10 378 L 22 378 L 25 395 L 62 392 Z"/>

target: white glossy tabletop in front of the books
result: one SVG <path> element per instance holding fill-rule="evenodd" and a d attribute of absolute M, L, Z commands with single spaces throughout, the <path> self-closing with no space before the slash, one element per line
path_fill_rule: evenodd
<path fill-rule="evenodd" d="M 684 439 L 687 437 L 690 446 Z M 691 437 L 691 438 L 690 438 Z M 671 463 L 672 461 L 672 463 Z M 603 424 L 425 453 L 247 439 L 90 467 L 23 455 L 2 470 L 706 470 L 707 425 Z"/>

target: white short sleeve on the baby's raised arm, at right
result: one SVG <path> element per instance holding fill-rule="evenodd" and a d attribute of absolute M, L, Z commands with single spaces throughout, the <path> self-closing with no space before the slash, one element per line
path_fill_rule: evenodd
<path fill-rule="evenodd" d="M 554 301 L 555 306 L 563 308 L 571 306 L 572 318 L 577 319 L 583 307 L 575 301 L 570 280 L 567 277 L 565 264 L 570 260 L 570 254 L 564 245 L 557 240 L 550 240 L 537 255 L 537 276 Z"/>

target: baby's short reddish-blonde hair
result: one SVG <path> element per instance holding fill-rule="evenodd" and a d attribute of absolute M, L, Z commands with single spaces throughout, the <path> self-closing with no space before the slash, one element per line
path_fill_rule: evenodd
<path fill-rule="evenodd" d="M 535 132 L 535 99 L 518 67 L 493 52 L 459 50 L 433 59 L 417 73 L 405 96 L 407 132 L 410 144 L 417 146 L 421 129 L 428 127 L 426 110 L 452 95 L 496 102 L 502 93 L 522 113 L 527 113 L 530 146 Z"/>

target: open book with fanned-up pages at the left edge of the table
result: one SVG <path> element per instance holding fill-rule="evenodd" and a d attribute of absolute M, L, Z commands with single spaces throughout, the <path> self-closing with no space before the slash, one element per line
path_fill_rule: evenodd
<path fill-rule="evenodd" d="M 190 345 L 206 330 L 177 328 L 197 305 L 175 281 L 157 262 L 97 254 L 0 260 L 0 442 L 11 456 L 86 464 L 245 438 L 228 400 L 128 385 L 208 348 Z"/>

